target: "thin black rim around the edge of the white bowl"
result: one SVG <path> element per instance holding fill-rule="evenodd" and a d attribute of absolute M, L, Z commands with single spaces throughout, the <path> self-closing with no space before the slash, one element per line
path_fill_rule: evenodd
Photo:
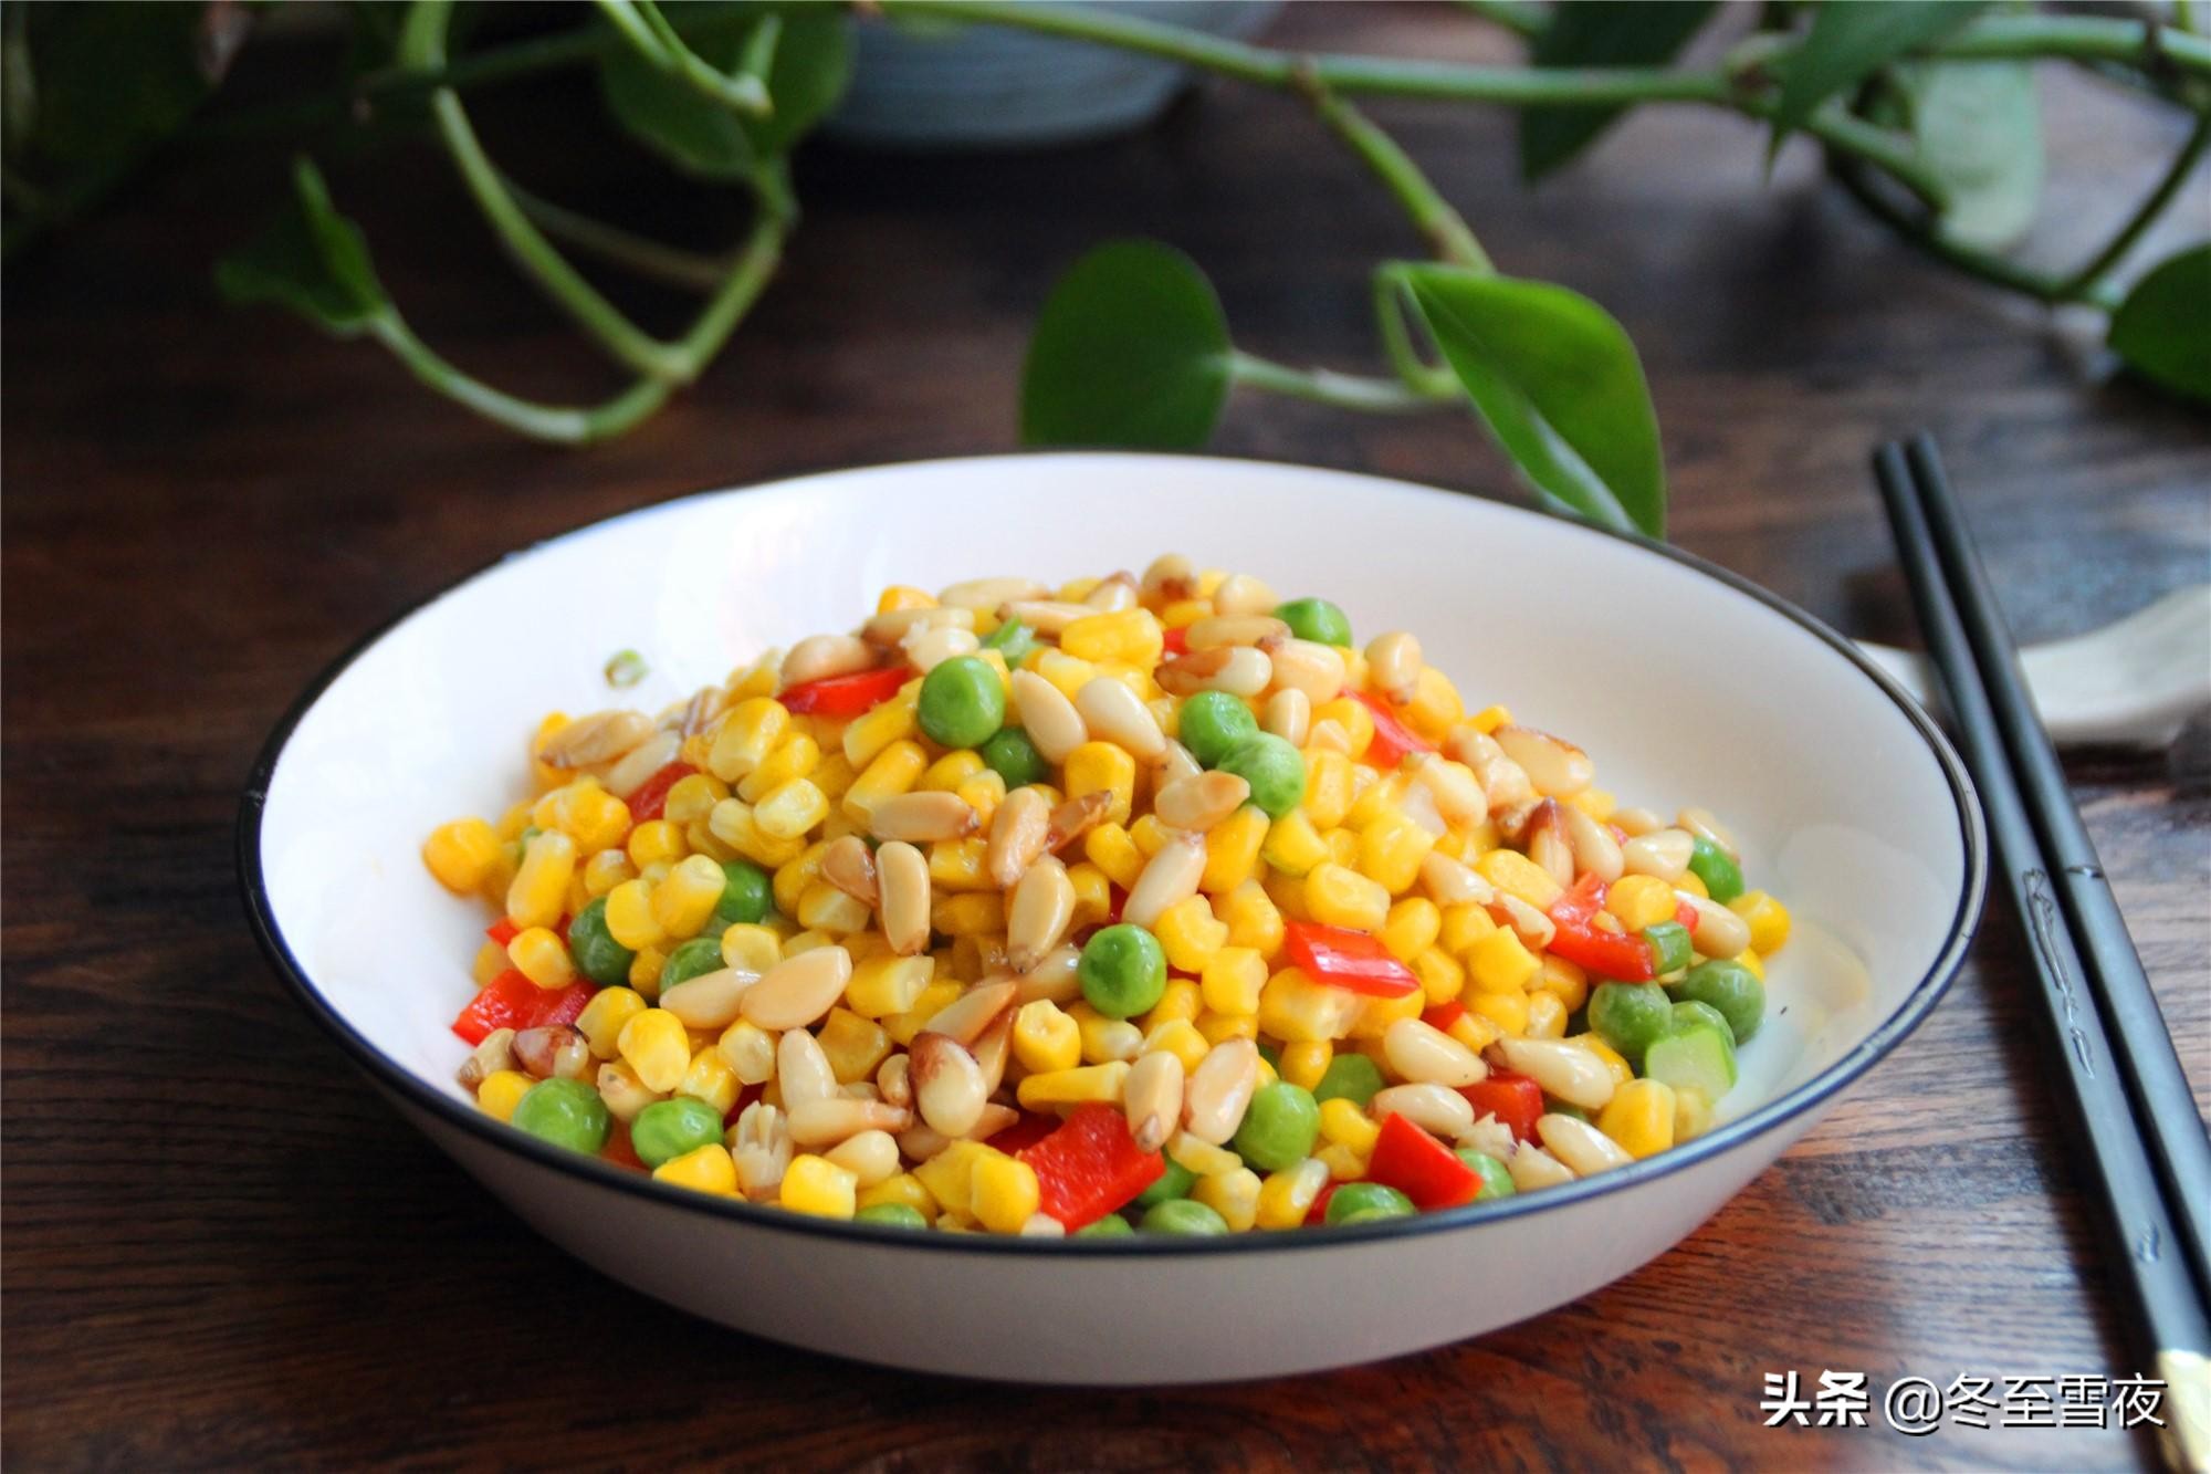
<path fill-rule="evenodd" d="M 1959 823 L 1959 843 L 1966 861 L 1966 883 L 1959 887 L 1957 912 L 1950 918 L 1950 932 L 1943 938 L 1932 965 L 1921 974 L 1919 983 L 1904 996 L 1904 1003 L 1873 1029 L 1851 1053 L 1842 1056 L 1824 1071 L 1795 1087 L 1793 1091 L 1764 1102 L 1756 1111 L 1731 1120 L 1714 1131 L 1685 1142 L 1680 1146 L 1667 1149 L 1654 1158 L 1645 1158 L 1630 1166 L 1601 1173 L 1596 1177 L 1581 1177 L 1554 1188 L 1543 1188 L 1541 1193 L 1526 1193 L 1512 1197 L 1499 1197 L 1490 1202 L 1466 1204 L 1459 1208 L 1442 1208 L 1437 1213 L 1415 1213 L 1411 1217 L 1393 1217 L 1375 1224 L 1349 1224 L 1349 1226 L 1316 1226 L 1300 1228 L 1293 1233 L 1236 1233 L 1227 1237 L 1181 1237 L 1181 1235 L 1130 1235 L 1130 1237 L 1099 1237 L 1099 1239 L 1024 1239 L 1010 1235 L 984 1235 L 984 1233 L 931 1233 L 913 1228 L 889 1228 L 878 1224 L 853 1224 L 845 1219 L 807 1217 L 800 1213 L 789 1213 L 785 1208 L 758 1206 L 745 1202 L 743 1197 L 712 1197 L 708 1193 L 694 1193 L 679 1186 L 668 1186 L 654 1182 L 652 1177 L 615 1166 L 599 1158 L 586 1158 L 577 1151 L 553 1146 L 542 1142 L 526 1131 L 517 1131 L 506 1122 L 497 1122 L 482 1111 L 473 1109 L 447 1096 L 444 1091 L 431 1087 L 429 1082 L 413 1076 L 409 1069 L 400 1067 L 396 1060 L 385 1056 L 376 1045 L 371 1045 L 352 1023 L 347 1023 L 307 980 L 307 969 L 292 956 L 292 949 L 283 941 L 283 932 L 276 925 L 274 910 L 270 907 L 268 883 L 261 870 L 261 819 L 268 806 L 270 779 L 276 772 L 276 764 L 283 759 L 283 750 L 292 739 L 292 730 L 301 724 L 307 710 L 323 697 L 323 693 L 340 677 L 360 655 L 365 655 L 378 640 L 389 631 L 420 613 L 422 609 L 436 604 L 447 593 L 453 593 L 462 584 L 469 584 L 484 573 L 506 564 L 511 558 L 526 556 L 542 547 L 555 542 L 566 542 L 568 538 L 581 538 L 595 533 L 615 522 L 624 522 L 637 516 L 650 516 L 666 511 L 674 505 L 688 500 L 723 498 L 723 496 L 745 496 L 750 491 L 803 485 L 807 480 L 853 476 L 862 471 L 898 471 L 918 465 L 944 465 L 955 460 L 1037 460 L 1050 456 L 1123 456 L 1132 463 L 1139 460 L 1192 460 L 1207 465 L 1256 465 L 1271 469 L 1293 469 L 1293 471 L 1322 471 L 1329 476 L 1344 476 L 1353 480 L 1371 480 L 1377 487 L 1389 487 L 1393 491 L 1424 491 L 1428 496 L 1453 498 L 1453 500 L 1477 500 L 1486 509 L 1495 509 L 1510 516 L 1541 518 L 1554 527 L 1572 529 L 1579 533 L 1612 538 L 1627 542 L 1632 547 L 1652 553 L 1654 558 L 1665 558 L 1685 569 L 1702 573 L 1736 593 L 1756 600 L 1758 604 L 1782 615 L 1798 629 L 1811 633 L 1815 640 L 1837 651 L 1848 660 L 1859 673 L 1864 673 L 1875 688 L 1882 691 L 1901 713 L 1904 719 L 1919 733 L 1928 752 L 1932 752 L 1943 779 L 1950 783 L 1950 797 Z M 1587 522 L 1570 522 L 1550 518 L 1541 511 L 1530 511 L 1526 507 L 1512 507 L 1506 502 L 1490 502 L 1475 498 L 1464 491 L 1446 491 L 1442 487 L 1424 487 L 1419 482 L 1395 480 L 1389 476 L 1369 476 L 1364 471 L 1335 471 L 1329 467 L 1300 467 L 1291 463 L 1269 463 L 1249 460 L 1236 456 L 1172 456 L 1172 454 L 1141 454 L 1141 451 L 1017 451 L 1002 456 L 935 456 L 924 460 L 900 460 L 878 467 L 853 467 L 847 471 L 818 471 L 803 476 L 783 476 L 776 480 L 752 482 L 745 487 L 723 487 L 714 491 L 694 491 L 685 496 L 674 496 L 646 507 L 632 507 L 630 511 L 619 511 L 610 518 L 588 522 L 573 531 L 546 538 L 517 553 L 506 553 L 486 562 L 484 567 L 455 578 L 453 582 L 440 587 L 438 591 L 416 600 L 400 613 L 391 615 L 367 635 L 347 646 L 329 666 L 316 675 L 305 691 L 292 702 L 292 706 L 276 722 L 268 741 L 261 748 L 261 757 L 254 761 L 252 779 L 245 786 L 245 797 L 239 803 L 239 826 L 237 826 L 237 859 L 239 859 L 239 883 L 245 892 L 245 912 L 252 923 L 254 938 L 261 943 L 261 952 L 268 956 L 276 976 L 283 978 L 285 987 L 298 1000 L 307 1014 L 323 1025 L 323 1029 L 352 1056 L 374 1082 L 398 1096 L 405 1104 L 436 1115 L 449 1127 L 478 1138 L 480 1142 L 506 1151 L 511 1155 L 535 1162 L 542 1169 L 564 1173 L 604 1188 L 619 1193 L 641 1195 L 652 1204 L 663 1208 L 679 1208 L 688 1213 L 705 1213 L 712 1217 L 727 1219 L 747 1228 L 765 1228 L 774 1233 L 798 1233 L 809 1237 L 820 1237 L 829 1242 L 845 1244 L 887 1244 L 900 1246 L 915 1253 L 951 1253 L 951 1255 L 1209 1255 L 1209 1253 L 1274 1253 L 1274 1250 L 1300 1250 L 1300 1248 L 1331 1248 L 1344 1244 L 1366 1244 L 1377 1239 L 1402 1239 L 1422 1233 L 1453 1233 L 1466 1228 L 1479 1228 L 1481 1224 L 1492 1224 L 1506 1217 L 1517 1217 L 1521 1213 L 1543 1213 L 1550 1208 L 1565 1208 L 1576 1202 L 1592 1197 L 1605 1197 L 1612 1193 L 1623 1193 L 1627 1188 L 1641 1186 L 1656 1177 L 1665 1177 L 1678 1171 L 1687 1171 L 1700 1162 L 1727 1155 L 1729 1151 L 1751 1142 L 1767 1131 L 1773 1131 L 1789 1120 L 1820 1107 L 1837 1091 L 1853 1084 L 1862 1073 L 1866 1073 L 1875 1062 L 1879 1062 L 1890 1049 L 1895 1049 L 1904 1038 L 1919 1027 L 1919 1020 L 1941 1000 L 1943 989 L 1957 976 L 1963 963 L 1966 949 L 1972 941 L 1974 923 L 1981 914 L 1983 887 L 1988 879 L 1988 857 L 1985 857 L 1985 830 L 1981 821 L 1981 806 L 1972 790 L 1972 781 L 1966 777 L 1966 768 L 1950 741 L 1941 735 L 1935 722 L 1919 708 L 1919 704 L 1904 693 L 1879 666 L 1875 666 L 1866 655 L 1857 651 L 1846 637 L 1811 617 L 1802 609 L 1789 604 L 1786 600 L 1760 589 L 1747 578 L 1711 564 L 1694 553 L 1685 553 L 1676 547 L 1652 542 L 1634 533 L 1612 531 L 1607 527 L 1594 527 Z"/>

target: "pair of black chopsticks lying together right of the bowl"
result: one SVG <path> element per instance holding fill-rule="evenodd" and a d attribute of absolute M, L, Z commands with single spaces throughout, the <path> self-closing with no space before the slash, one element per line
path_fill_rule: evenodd
<path fill-rule="evenodd" d="M 1884 445 L 1873 474 L 2056 1029 L 2114 1284 L 2167 1383 L 2167 1456 L 2211 1470 L 2211 1140 L 1935 443 Z"/>

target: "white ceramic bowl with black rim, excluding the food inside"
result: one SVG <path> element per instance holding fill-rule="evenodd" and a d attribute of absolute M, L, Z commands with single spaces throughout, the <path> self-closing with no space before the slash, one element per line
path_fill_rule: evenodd
<path fill-rule="evenodd" d="M 447 1029 L 484 916 L 418 859 L 520 797 L 526 730 L 657 708 L 891 582 L 1141 569 L 1163 549 L 1417 631 L 1470 704 L 1570 735 L 1623 801 L 1702 803 L 1798 936 L 1722 1124 L 1526 1197 L 1229 1239 L 993 1239 L 663 1188 L 480 1115 Z M 1340 471 L 1187 456 L 935 460 L 692 496 L 515 553 L 371 635 L 283 719 L 239 861 L 279 974 L 438 1146 L 639 1290 L 814 1350 L 973 1377 L 1176 1383 L 1371 1361 L 1526 1319 L 1656 1257 L 1935 1005 L 1979 916 L 1957 757 L 1848 642 L 1678 551 Z"/>

